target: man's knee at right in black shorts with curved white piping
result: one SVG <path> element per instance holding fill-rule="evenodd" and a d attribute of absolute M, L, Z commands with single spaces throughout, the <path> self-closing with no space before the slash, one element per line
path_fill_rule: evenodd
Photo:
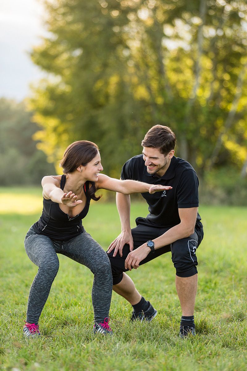
<path fill-rule="evenodd" d="M 185 238 L 171 244 L 171 259 L 178 277 L 191 277 L 197 273 L 196 239 Z"/>

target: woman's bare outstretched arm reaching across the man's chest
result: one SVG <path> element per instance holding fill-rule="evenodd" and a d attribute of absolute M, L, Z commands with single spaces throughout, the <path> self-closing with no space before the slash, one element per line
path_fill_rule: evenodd
<path fill-rule="evenodd" d="M 155 193 L 157 191 L 169 190 L 170 185 L 148 184 L 137 180 L 118 180 L 110 178 L 105 174 L 99 174 L 98 181 L 95 182 L 97 189 L 107 189 L 109 191 L 120 192 L 124 194 L 132 193 Z"/>

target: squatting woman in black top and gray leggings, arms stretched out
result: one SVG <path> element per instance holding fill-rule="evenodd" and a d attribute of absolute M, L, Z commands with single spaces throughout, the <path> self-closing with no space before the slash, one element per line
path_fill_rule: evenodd
<path fill-rule="evenodd" d="M 112 334 L 108 324 L 112 292 L 110 262 L 101 246 L 84 230 L 81 219 L 87 215 L 91 198 L 99 200 L 100 197 L 95 195 L 97 189 L 131 194 L 154 193 L 171 187 L 109 178 L 100 174 L 103 170 L 100 161 L 96 144 L 77 141 L 64 152 L 60 163 L 64 175 L 42 179 L 43 212 L 30 227 L 24 241 L 27 255 L 39 267 L 31 285 L 23 328 L 27 338 L 40 336 L 39 317 L 59 269 L 57 253 L 70 257 L 93 272 L 93 331 Z"/>

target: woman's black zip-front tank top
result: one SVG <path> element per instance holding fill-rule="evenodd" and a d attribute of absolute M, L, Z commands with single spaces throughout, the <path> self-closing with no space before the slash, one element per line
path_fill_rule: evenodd
<path fill-rule="evenodd" d="M 62 175 L 60 188 L 63 190 L 66 182 L 66 175 Z M 83 185 L 86 195 L 86 205 L 84 209 L 75 216 L 70 218 L 69 214 L 64 213 L 59 207 L 59 204 L 51 200 L 43 198 L 43 211 L 40 219 L 33 224 L 33 229 L 37 234 L 43 234 L 50 237 L 53 241 L 68 241 L 84 232 L 81 219 L 83 219 L 90 205 L 89 181 Z"/>

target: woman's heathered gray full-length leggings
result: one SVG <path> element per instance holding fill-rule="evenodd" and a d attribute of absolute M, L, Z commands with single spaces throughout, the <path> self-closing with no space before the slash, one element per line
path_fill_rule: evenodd
<path fill-rule="evenodd" d="M 27 303 L 27 322 L 38 323 L 47 301 L 51 285 L 59 269 L 57 253 L 66 255 L 88 267 L 94 274 L 92 303 L 94 322 L 100 323 L 109 317 L 112 293 L 111 265 L 106 252 L 84 231 L 66 242 L 52 241 L 49 237 L 29 229 L 24 241 L 30 260 L 39 269 L 31 285 Z"/>

